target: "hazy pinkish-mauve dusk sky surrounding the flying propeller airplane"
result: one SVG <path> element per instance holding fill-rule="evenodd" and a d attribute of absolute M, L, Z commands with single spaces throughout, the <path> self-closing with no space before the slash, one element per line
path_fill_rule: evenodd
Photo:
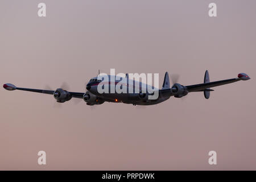
<path fill-rule="evenodd" d="M 47 16 L 39 18 L 38 3 Z M 208 16 L 210 2 L 217 17 Z M 184 85 L 236 77 L 209 100 L 153 106 L 0 89 L 0 169 L 256 169 L 256 1 L 0 1 L 0 83 L 73 92 L 98 69 L 179 73 Z M 38 151 L 47 154 L 39 166 Z M 217 165 L 208 152 L 217 152 Z"/>

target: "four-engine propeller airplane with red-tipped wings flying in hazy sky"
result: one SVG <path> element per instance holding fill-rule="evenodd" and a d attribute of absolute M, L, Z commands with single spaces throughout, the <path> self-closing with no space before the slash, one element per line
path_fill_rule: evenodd
<path fill-rule="evenodd" d="M 108 75 L 108 77 L 111 77 L 111 75 Z M 117 80 L 121 80 L 120 78 L 116 78 Z M 129 82 L 129 75 L 126 74 L 127 83 Z M 171 96 L 174 96 L 176 98 L 181 98 L 186 96 L 190 92 L 203 92 L 204 97 L 208 99 L 210 97 L 210 92 L 213 90 L 210 88 L 213 88 L 215 86 L 230 84 L 232 82 L 240 81 L 240 80 L 249 80 L 250 77 L 246 75 L 245 73 L 239 73 L 236 78 L 231 78 L 228 80 L 220 80 L 220 81 L 213 81 L 210 82 L 209 78 L 209 72 L 205 71 L 204 75 L 204 83 L 202 84 L 196 84 L 196 85 L 181 85 L 177 82 L 174 82 L 173 85 L 170 87 L 170 80 L 168 72 L 166 72 L 164 76 L 163 86 L 162 89 L 158 89 L 158 98 L 155 100 L 148 99 L 148 96 L 152 95 L 152 93 L 148 92 L 142 92 L 143 86 L 148 86 L 147 84 L 144 84 L 142 82 L 139 82 L 139 92 L 135 92 L 134 84 L 133 86 L 133 93 L 117 93 L 115 91 L 114 93 L 99 93 L 97 90 L 97 86 L 104 80 L 99 79 L 98 77 L 93 77 L 89 80 L 88 84 L 86 84 L 86 92 L 69 92 L 67 90 L 64 90 L 63 88 L 58 88 L 56 90 L 42 90 L 42 89 L 30 89 L 30 88 L 19 88 L 16 87 L 13 84 L 4 84 L 3 88 L 6 90 L 25 90 L 29 92 L 38 92 L 38 93 L 44 93 L 44 94 L 50 94 L 53 95 L 53 97 L 56 99 L 57 102 L 63 103 L 66 101 L 71 100 L 71 98 L 81 98 L 83 99 L 87 105 L 100 105 L 104 102 L 115 102 L 115 103 L 124 103 L 124 104 L 133 104 L 133 105 L 155 105 L 159 104 L 163 101 L 168 100 Z M 114 85 L 118 83 L 118 81 L 115 80 Z M 130 80 L 131 81 L 131 80 Z M 134 80 L 132 80 L 134 82 Z M 104 86 L 111 86 L 110 82 L 105 82 Z M 129 84 L 126 85 L 127 89 L 129 88 Z M 153 88 L 153 87 L 152 87 Z M 154 91 L 155 92 L 155 91 Z"/>

